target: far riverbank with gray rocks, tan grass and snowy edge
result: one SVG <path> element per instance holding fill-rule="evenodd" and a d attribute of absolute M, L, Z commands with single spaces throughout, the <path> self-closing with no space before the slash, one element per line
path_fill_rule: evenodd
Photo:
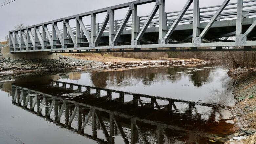
<path fill-rule="evenodd" d="M 0 59 L 0 75 L 13 75 L 30 72 L 61 72 L 74 70 L 125 70 L 151 66 L 185 66 L 204 64 L 208 61 L 199 59 L 172 59 L 160 58 L 158 60 L 140 60 L 134 58 L 122 58 L 111 55 L 100 56 L 89 54 L 88 56 L 59 55 L 59 59 Z"/>

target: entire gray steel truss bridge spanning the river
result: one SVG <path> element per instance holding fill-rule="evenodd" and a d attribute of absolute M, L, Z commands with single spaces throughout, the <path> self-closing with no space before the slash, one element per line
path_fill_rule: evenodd
<path fill-rule="evenodd" d="M 181 11 L 166 12 L 165 0 L 137 0 L 93 10 L 9 31 L 10 52 L 256 51 L 256 0 L 229 2 L 200 8 L 188 0 Z M 156 4 L 151 13 L 137 16 L 147 3 Z M 127 12 L 116 20 L 119 9 Z M 106 13 L 102 23 L 99 13 Z M 91 25 L 84 25 L 87 16 Z"/>

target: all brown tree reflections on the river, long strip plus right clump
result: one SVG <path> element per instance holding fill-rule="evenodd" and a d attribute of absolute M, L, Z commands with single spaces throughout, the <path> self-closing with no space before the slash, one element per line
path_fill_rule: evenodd
<path fill-rule="evenodd" d="M 205 66 L 205 65 L 204 65 Z M 199 66 L 203 67 L 203 66 Z M 125 71 L 110 71 L 110 72 L 92 72 L 93 84 L 97 87 L 106 87 L 107 84 L 118 85 L 124 83 L 125 85 L 137 84 L 142 82 L 145 86 L 150 86 L 153 82 L 164 82 L 169 79 L 172 83 L 181 79 L 184 68 L 178 67 L 149 67 L 139 69 L 129 69 Z M 210 71 L 202 70 L 194 72 L 194 75 L 189 76 L 194 86 L 201 87 L 203 83 L 211 80 Z"/>

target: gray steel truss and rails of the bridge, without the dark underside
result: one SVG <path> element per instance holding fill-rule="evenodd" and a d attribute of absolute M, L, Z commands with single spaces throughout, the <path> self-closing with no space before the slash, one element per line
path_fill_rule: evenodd
<path fill-rule="evenodd" d="M 143 49 L 143 48 L 174 48 L 176 47 L 225 47 L 225 46 L 254 46 L 256 42 L 247 41 L 246 37 L 255 27 L 255 19 L 248 24 L 251 26 L 242 34 L 242 20 L 256 15 L 256 0 L 238 0 L 229 3 L 224 0 L 222 5 L 199 8 L 199 0 L 188 0 L 183 10 L 165 12 L 164 0 L 138 0 L 109 8 L 73 15 L 20 30 L 9 31 L 10 51 L 100 51 L 101 49 Z M 155 2 L 156 6 L 150 15 L 137 16 L 137 6 Z M 194 2 L 194 9 L 188 9 Z M 118 9 L 129 8 L 125 19 L 114 19 L 114 12 Z M 244 9 L 243 9 L 244 8 Z M 159 14 L 156 14 L 160 10 Z M 195 11 L 196 10 L 196 11 Z M 107 12 L 102 23 L 96 23 L 96 14 Z M 83 24 L 83 17 L 91 15 L 91 25 Z M 132 17 L 132 18 L 130 18 Z M 71 27 L 69 20 L 75 19 L 76 27 Z M 205 39 L 204 36 L 215 21 L 236 19 L 237 31 L 221 35 L 223 37 L 236 36 L 234 42 L 218 42 L 217 39 Z M 250 21 L 250 20 L 248 20 Z M 59 29 L 57 23 L 62 22 L 64 29 Z M 200 23 L 206 23 L 200 26 Z M 255 23 L 254 23 L 255 22 Z M 181 41 L 172 40 L 170 36 L 178 25 L 191 24 L 193 33 Z M 247 24 L 247 23 L 246 23 Z M 48 26 L 52 26 L 52 31 Z M 152 28 L 152 30 L 150 30 Z M 200 29 L 203 29 L 201 32 Z M 127 31 L 126 31 L 127 30 Z M 152 44 L 140 44 L 147 30 L 158 32 L 159 38 Z M 129 32 L 128 32 L 129 31 Z M 105 32 L 105 33 L 104 33 Z M 104 33 L 104 34 L 103 34 Z M 121 34 L 130 34 L 131 41 L 121 41 L 128 45 L 118 44 Z M 109 41 L 101 37 L 109 37 Z M 191 39 L 191 43 L 184 41 Z M 149 41 L 143 39 L 144 41 Z M 172 43 L 172 42 L 175 43 Z M 155 43 L 155 44 L 154 44 Z M 109 51 L 108 50 L 108 51 Z M 250 49 L 248 49 L 250 50 Z"/>

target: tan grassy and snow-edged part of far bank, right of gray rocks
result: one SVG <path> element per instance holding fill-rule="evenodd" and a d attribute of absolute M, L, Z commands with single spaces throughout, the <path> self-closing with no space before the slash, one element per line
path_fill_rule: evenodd
<path fill-rule="evenodd" d="M 99 53 L 83 53 L 80 54 L 64 54 L 65 56 L 81 59 L 102 62 L 106 66 L 106 71 L 113 70 L 127 70 L 131 68 L 151 67 L 151 66 L 195 66 L 197 64 L 204 64 L 212 61 L 203 61 L 200 59 L 180 59 L 160 57 L 155 60 L 136 59 L 116 57 L 110 54 L 101 56 Z"/>

